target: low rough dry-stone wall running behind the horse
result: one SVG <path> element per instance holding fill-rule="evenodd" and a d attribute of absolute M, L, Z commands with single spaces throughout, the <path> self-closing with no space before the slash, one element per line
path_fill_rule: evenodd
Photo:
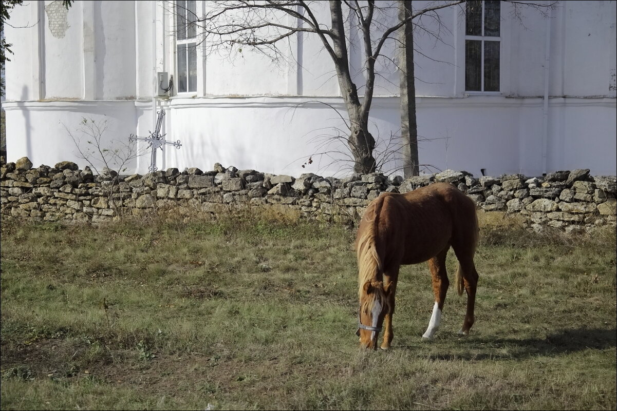
<path fill-rule="evenodd" d="M 405 193 L 449 182 L 473 198 L 484 211 L 518 216 L 526 226 L 557 227 L 570 232 L 616 221 L 615 176 L 589 175 L 589 169 L 557 171 L 544 177 L 521 174 L 474 177 L 446 170 L 403 179 L 383 174 L 353 174 L 337 179 L 315 174 L 299 177 L 238 170 L 220 164 L 213 171 L 176 168 L 141 176 L 97 176 L 86 167 L 63 161 L 32 168 L 28 158 L 2 164 L 2 215 L 43 221 L 103 222 L 120 214 L 189 208 L 222 213 L 237 206 L 277 205 L 306 218 L 357 219 L 381 192 Z"/>

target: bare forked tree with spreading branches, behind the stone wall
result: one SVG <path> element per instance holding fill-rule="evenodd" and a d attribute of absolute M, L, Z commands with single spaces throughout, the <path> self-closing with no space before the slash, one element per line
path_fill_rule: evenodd
<path fill-rule="evenodd" d="M 432 10 L 443 9 L 461 1 L 436 2 L 431 7 L 417 10 L 400 22 L 384 25 L 376 13 L 384 9 L 395 9 L 390 2 L 378 5 L 375 1 L 329 1 L 329 21 L 320 21 L 315 13 L 318 3 L 302 0 L 283 1 L 215 1 L 207 4 L 207 11 L 201 17 L 194 16 L 203 41 L 209 51 L 231 50 L 234 47 L 250 46 L 273 57 L 281 57 L 281 45 L 295 33 L 313 33 L 323 43 L 325 51 L 334 62 L 336 77 L 346 105 L 349 118 L 347 145 L 354 157 L 354 171 L 370 173 L 375 171 L 373 157 L 375 138 L 369 131 L 369 113 L 375 91 L 375 65 L 378 59 L 391 59 L 384 55 L 384 44 L 394 39 L 397 30 L 410 23 L 413 18 Z M 344 10 L 345 9 L 345 10 Z M 172 11 L 173 12 L 173 11 Z M 186 14 L 185 14 L 186 15 Z M 358 87 L 354 83 L 350 67 L 346 32 L 347 16 L 362 36 L 364 52 L 363 70 L 365 83 Z M 297 24 L 285 23 L 291 16 Z M 187 17 L 189 18 L 189 17 Z M 358 88 L 363 89 L 360 95 Z"/>

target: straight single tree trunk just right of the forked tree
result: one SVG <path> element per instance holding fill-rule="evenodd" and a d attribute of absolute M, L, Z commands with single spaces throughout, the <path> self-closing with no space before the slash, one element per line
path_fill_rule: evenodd
<path fill-rule="evenodd" d="M 399 20 L 412 15 L 412 0 L 399 0 Z M 418 168 L 418 124 L 416 123 L 416 86 L 413 76 L 413 24 L 399 30 L 400 129 L 403 139 L 403 173 L 420 174 Z"/>

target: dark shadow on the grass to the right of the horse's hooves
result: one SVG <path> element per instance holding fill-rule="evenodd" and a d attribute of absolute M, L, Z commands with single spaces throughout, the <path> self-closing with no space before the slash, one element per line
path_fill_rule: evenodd
<path fill-rule="evenodd" d="M 431 360 L 511 360 L 537 356 L 557 356 L 589 349 L 608 349 L 617 346 L 617 329 L 564 328 L 544 338 L 469 338 L 462 340 L 466 352 L 431 354 Z M 403 346 L 417 349 L 417 346 Z"/>

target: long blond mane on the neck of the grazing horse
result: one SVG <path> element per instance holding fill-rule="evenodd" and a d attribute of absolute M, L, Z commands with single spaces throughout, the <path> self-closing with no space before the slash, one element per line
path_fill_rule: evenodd
<path fill-rule="evenodd" d="M 380 199 L 381 200 L 381 199 Z M 373 207 L 367 208 L 360 232 L 356 242 L 356 256 L 358 259 L 358 295 L 362 295 L 363 285 L 370 280 L 379 280 L 383 276 L 383 264 L 377 252 L 376 226 L 378 224 L 379 211 L 383 201 L 377 201 Z M 371 210 L 372 209 L 372 210 Z M 370 214 L 374 213 L 372 218 Z"/>

